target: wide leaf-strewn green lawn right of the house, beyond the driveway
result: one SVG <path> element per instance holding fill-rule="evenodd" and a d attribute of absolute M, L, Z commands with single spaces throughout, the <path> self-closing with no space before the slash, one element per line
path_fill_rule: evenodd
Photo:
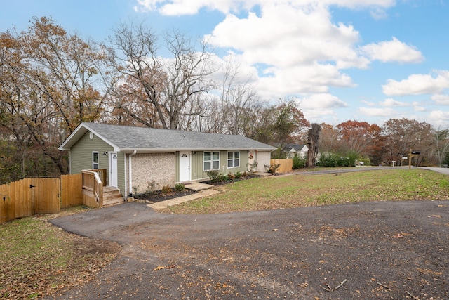
<path fill-rule="evenodd" d="M 448 200 L 449 176 L 423 169 L 270 176 L 217 187 L 222 193 L 168 207 L 176 214 L 285 209 L 347 202 Z"/>

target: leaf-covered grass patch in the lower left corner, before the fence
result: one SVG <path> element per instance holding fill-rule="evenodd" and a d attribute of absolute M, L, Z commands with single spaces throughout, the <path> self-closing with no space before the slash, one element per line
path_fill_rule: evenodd
<path fill-rule="evenodd" d="M 0 225 L 0 299 L 40 299 L 82 285 L 119 251 L 118 244 L 67 233 L 46 218 Z"/>

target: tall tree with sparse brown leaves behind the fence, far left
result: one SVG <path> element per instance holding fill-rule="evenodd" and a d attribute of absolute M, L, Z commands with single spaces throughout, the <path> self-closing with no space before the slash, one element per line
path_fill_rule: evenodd
<path fill-rule="evenodd" d="M 46 157 L 53 167 L 35 165 L 53 174 L 67 172 L 57 146 L 80 122 L 95 121 L 102 112 L 97 90 L 98 50 L 76 34 L 68 34 L 51 18 L 34 19 L 27 32 L 0 35 L 2 128 L 14 136 L 25 165 Z M 31 152 L 30 152 L 31 151 Z M 46 164 L 45 160 L 42 162 Z"/>

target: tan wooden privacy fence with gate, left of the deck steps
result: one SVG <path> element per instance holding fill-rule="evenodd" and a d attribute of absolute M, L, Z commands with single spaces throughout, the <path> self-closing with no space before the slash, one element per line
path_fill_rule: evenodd
<path fill-rule="evenodd" d="M 56 214 L 81 204 L 81 174 L 25 178 L 0 185 L 0 224 L 34 214 Z"/>

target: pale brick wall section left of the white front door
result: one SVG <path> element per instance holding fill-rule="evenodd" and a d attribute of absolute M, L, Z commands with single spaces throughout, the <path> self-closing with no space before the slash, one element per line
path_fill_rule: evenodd
<path fill-rule="evenodd" d="M 138 193 L 144 193 L 148 183 L 152 181 L 158 184 L 158 190 L 164 185 L 171 187 L 175 185 L 175 153 L 142 153 L 133 156 L 132 159 L 133 187 L 139 187 Z"/>

